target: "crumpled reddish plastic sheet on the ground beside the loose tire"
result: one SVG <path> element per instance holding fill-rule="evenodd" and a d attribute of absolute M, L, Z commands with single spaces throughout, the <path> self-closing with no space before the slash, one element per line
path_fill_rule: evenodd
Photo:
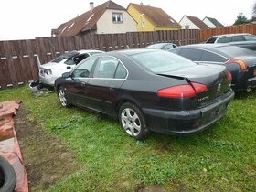
<path fill-rule="evenodd" d="M 13 165 L 16 172 L 15 192 L 28 192 L 27 172 L 16 137 L 13 116 L 20 101 L 0 102 L 0 155 Z"/>

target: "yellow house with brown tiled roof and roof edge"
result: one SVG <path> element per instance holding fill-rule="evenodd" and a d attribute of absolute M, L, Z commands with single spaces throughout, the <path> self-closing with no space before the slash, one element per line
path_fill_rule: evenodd
<path fill-rule="evenodd" d="M 138 31 L 178 30 L 181 26 L 161 8 L 143 4 L 129 4 L 127 12 L 137 22 Z"/>

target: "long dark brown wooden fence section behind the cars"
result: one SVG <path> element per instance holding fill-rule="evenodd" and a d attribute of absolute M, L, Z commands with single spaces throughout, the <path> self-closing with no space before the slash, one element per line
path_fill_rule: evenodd
<path fill-rule="evenodd" d="M 46 63 L 74 49 L 110 51 L 144 48 L 158 42 L 186 45 L 198 43 L 198 39 L 198 30 L 178 30 L 0 41 L 0 89 L 21 85 L 30 80 L 38 80 L 37 56 L 41 63 Z"/>

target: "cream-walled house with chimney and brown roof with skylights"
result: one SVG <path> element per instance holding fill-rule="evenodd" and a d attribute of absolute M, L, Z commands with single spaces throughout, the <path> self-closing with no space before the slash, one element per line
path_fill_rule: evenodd
<path fill-rule="evenodd" d="M 107 1 L 53 29 L 53 36 L 80 36 L 87 33 L 112 34 L 136 31 L 136 21 L 123 6 Z"/>

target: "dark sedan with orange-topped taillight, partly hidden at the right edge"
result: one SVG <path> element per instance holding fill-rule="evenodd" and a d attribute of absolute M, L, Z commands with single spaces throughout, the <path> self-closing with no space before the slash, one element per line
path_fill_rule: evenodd
<path fill-rule="evenodd" d="M 170 50 L 199 64 L 226 66 L 232 74 L 234 91 L 251 91 L 256 87 L 256 52 L 226 44 L 196 44 Z"/>

